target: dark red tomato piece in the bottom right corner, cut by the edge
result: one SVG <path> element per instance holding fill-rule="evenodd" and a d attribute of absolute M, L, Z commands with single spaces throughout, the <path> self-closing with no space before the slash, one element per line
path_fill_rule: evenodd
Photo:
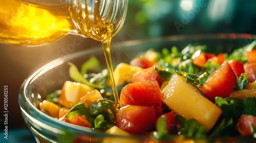
<path fill-rule="evenodd" d="M 250 125 L 256 127 L 256 116 L 243 114 L 237 122 L 237 130 L 241 135 L 252 135 Z"/>

